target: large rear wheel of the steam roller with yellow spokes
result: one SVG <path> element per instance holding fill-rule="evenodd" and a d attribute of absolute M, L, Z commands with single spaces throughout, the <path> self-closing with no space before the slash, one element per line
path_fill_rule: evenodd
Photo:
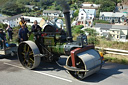
<path fill-rule="evenodd" d="M 18 57 L 20 63 L 27 69 L 34 69 L 40 64 L 40 54 L 37 45 L 32 41 L 20 43 L 18 47 Z"/>

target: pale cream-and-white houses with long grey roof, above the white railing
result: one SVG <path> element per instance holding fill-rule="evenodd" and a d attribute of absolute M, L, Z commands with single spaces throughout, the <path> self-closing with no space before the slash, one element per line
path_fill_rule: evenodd
<path fill-rule="evenodd" d="M 126 25 L 114 25 L 114 24 L 100 24 L 96 23 L 94 28 L 99 36 L 111 35 L 113 40 L 127 41 L 128 39 L 128 26 Z M 107 34 L 107 35 L 105 35 Z"/>

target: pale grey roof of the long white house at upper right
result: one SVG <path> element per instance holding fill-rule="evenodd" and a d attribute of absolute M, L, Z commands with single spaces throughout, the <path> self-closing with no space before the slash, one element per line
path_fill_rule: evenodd
<path fill-rule="evenodd" d="M 127 17 L 126 13 L 121 13 L 121 12 L 100 12 L 100 16 L 105 16 L 105 17 Z"/>

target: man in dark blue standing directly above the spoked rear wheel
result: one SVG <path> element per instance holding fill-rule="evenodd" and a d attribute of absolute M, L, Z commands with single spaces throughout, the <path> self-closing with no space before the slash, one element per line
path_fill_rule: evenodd
<path fill-rule="evenodd" d="M 27 41 L 28 40 L 28 29 L 25 28 L 25 25 L 21 25 L 21 28 L 19 29 L 19 42 Z"/>

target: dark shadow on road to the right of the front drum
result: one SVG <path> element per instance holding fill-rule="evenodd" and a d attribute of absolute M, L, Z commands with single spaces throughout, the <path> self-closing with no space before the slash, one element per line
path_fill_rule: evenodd
<path fill-rule="evenodd" d="M 103 65 L 102 69 L 99 72 L 85 78 L 83 81 L 100 82 L 107 79 L 108 77 L 111 77 L 112 75 L 118 75 L 123 73 L 122 71 L 120 71 L 121 69 L 128 69 L 128 66 L 116 63 L 105 63 L 105 65 Z"/>

